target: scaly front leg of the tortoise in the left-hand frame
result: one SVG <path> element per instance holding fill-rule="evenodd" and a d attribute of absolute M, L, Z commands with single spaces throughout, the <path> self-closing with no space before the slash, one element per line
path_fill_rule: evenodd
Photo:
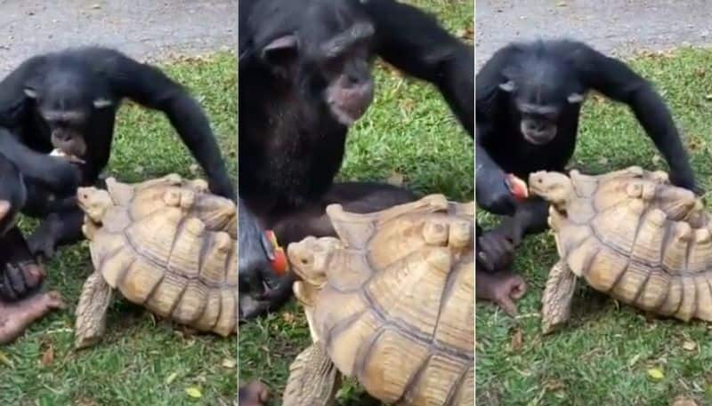
<path fill-rule="evenodd" d="M 111 286 L 99 271 L 86 278 L 77 305 L 75 348 L 93 346 L 104 335 L 106 312 L 111 302 Z"/>

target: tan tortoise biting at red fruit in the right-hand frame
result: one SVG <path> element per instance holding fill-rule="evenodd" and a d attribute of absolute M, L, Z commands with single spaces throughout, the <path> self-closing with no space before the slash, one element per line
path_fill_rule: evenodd
<path fill-rule="evenodd" d="M 576 277 L 645 312 L 712 321 L 712 239 L 700 198 L 663 171 L 632 166 L 590 176 L 530 174 L 532 195 L 551 203 L 560 260 L 542 298 L 544 333 L 570 317 Z"/>

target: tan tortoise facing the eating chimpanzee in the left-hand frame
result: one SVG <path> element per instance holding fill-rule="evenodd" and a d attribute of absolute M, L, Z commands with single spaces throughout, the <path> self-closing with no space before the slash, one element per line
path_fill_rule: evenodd
<path fill-rule="evenodd" d="M 75 346 L 105 330 L 111 292 L 152 313 L 223 337 L 237 332 L 237 208 L 206 182 L 171 174 L 135 185 L 81 187 L 95 271 L 77 305 Z"/>

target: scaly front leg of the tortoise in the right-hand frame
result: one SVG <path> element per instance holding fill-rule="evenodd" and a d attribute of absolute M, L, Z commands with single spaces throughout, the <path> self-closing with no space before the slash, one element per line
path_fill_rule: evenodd
<path fill-rule="evenodd" d="M 576 290 L 576 275 L 562 259 L 549 271 L 546 289 L 541 302 L 542 333 L 548 334 L 569 321 L 571 299 Z"/>

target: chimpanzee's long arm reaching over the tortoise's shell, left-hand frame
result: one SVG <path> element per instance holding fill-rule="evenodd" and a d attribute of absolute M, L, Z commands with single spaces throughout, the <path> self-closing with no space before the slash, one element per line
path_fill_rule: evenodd
<path fill-rule="evenodd" d="M 107 77 L 114 94 L 164 112 L 183 143 L 206 171 L 211 191 L 236 199 L 213 131 L 198 102 L 160 69 L 140 63 L 112 50 L 99 49 L 88 55 Z"/>

